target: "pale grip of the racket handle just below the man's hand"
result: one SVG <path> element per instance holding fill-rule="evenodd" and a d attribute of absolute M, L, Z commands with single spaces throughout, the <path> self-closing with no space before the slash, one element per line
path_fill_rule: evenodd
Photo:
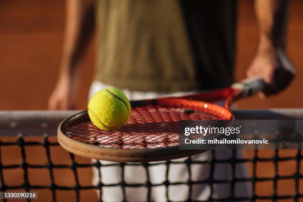
<path fill-rule="evenodd" d="M 250 97 L 264 91 L 265 86 L 265 82 L 261 77 L 254 77 L 234 83 L 231 87 L 243 91 L 243 97 Z"/>

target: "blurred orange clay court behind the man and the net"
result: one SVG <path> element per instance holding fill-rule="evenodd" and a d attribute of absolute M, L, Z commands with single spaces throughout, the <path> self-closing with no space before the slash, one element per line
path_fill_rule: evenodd
<path fill-rule="evenodd" d="M 239 0 L 238 14 L 238 40 L 237 40 L 237 64 L 236 78 L 245 77 L 246 68 L 249 66 L 256 48 L 257 23 L 253 10 L 253 0 Z M 0 1 L 0 110 L 45 110 L 50 92 L 55 85 L 58 75 L 61 49 L 64 33 L 64 0 L 1 0 Z M 241 101 L 239 108 L 277 108 L 277 107 L 303 107 L 303 1 L 292 0 L 289 26 L 287 52 L 297 67 L 298 74 L 290 88 L 276 97 L 264 101 L 252 98 Z M 90 43 L 80 65 L 83 68 L 82 88 L 78 94 L 77 107 L 85 109 L 87 94 L 92 79 L 95 65 L 94 40 Z M 2 159 L 7 162 L 20 162 L 20 153 L 13 148 L 1 151 Z M 3 156 L 3 153 L 10 156 Z M 27 151 L 31 156 L 29 161 L 45 162 L 45 153 L 36 148 Z M 69 163 L 68 153 L 57 147 L 52 152 L 54 163 Z M 247 152 L 251 155 L 253 152 Z M 281 155 L 294 154 L 295 151 L 281 152 Z M 272 155 L 272 151 L 262 152 L 264 156 Z M 82 162 L 88 159 L 79 158 Z M 288 164 L 287 164 L 288 163 Z M 289 168 L 295 162 L 286 162 L 279 168 L 279 172 L 291 173 Z M 260 176 L 274 174 L 273 163 L 262 165 L 259 169 Z M 260 167 L 262 168 L 262 167 Z M 40 172 L 39 179 L 31 179 L 34 183 L 48 184 L 47 169 L 32 172 Z M 64 170 L 56 170 L 63 174 L 58 179 L 64 185 L 73 184 L 73 176 Z M 79 169 L 80 174 L 87 174 L 84 183 L 91 181 L 90 169 Z M 22 170 L 4 173 L 10 176 L 6 181 L 11 184 L 19 184 L 22 179 Z M 46 177 L 44 177 L 46 176 Z M 21 178 L 20 178 L 21 177 Z M 6 177 L 7 178 L 7 177 Z M 20 178 L 20 179 L 19 179 Z M 282 182 L 278 185 L 278 191 L 292 193 L 292 181 Z M 303 185 L 303 183 L 301 183 Z M 280 187 L 279 187 L 280 186 Z M 258 193 L 270 194 L 272 184 L 266 182 L 257 185 Z M 303 188 L 300 188 L 303 190 Z M 39 191 L 41 201 L 49 201 L 49 191 Z M 59 201 L 65 197 L 73 197 L 72 191 L 59 191 Z M 97 200 L 92 191 L 84 192 L 82 201 Z M 39 201 L 40 201 L 39 200 Z M 287 201 L 287 200 L 286 200 Z"/>

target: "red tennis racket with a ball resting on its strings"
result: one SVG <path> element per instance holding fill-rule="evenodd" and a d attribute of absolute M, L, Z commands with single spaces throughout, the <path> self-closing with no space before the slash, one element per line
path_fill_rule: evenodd
<path fill-rule="evenodd" d="M 260 78 L 243 80 L 229 88 L 179 98 L 131 101 L 128 122 L 118 130 L 97 128 L 87 111 L 65 119 L 58 142 L 74 154 L 117 162 L 150 162 L 186 157 L 206 150 L 179 150 L 180 120 L 230 120 L 232 102 L 263 91 Z M 225 101 L 225 106 L 215 104 Z"/>

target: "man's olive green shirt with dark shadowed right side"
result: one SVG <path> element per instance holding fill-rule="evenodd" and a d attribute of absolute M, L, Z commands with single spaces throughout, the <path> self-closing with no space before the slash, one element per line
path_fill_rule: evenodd
<path fill-rule="evenodd" d="M 232 83 L 234 0 L 97 0 L 96 11 L 95 79 L 162 93 Z"/>

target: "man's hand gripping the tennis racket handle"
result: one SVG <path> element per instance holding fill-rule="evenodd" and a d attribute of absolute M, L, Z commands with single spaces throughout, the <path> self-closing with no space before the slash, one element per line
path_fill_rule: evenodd
<path fill-rule="evenodd" d="M 261 98 L 286 89 L 296 75 L 296 69 L 284 50 L 274 48 L 257 51 L 247 71 L 248 77 L 262 77 L 267 84 Z"/>

